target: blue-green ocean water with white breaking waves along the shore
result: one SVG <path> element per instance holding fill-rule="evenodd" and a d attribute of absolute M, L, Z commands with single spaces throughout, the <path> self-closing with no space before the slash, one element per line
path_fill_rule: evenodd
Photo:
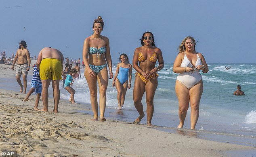
<path fill-rule="evenodd" d="M 226 66 L 233 66 L 226 70 Z M 256 145 L 256 64 L 208 64 L 209 72 L 202 73 L 204 82 L 204 92 L 201 97 L 199 107 L 199 120 L 196 129 L 201 132 L 201 137 L 204 133 L 214 133 L 215 135 L 229 135 L 237 137 L 237 141 L 243 141 L 239 138 L 246 137 L 249 140 L 249 145 Z M 154 98 L 154 116 L 152 124 L 162 127 L 162 130 L 170 131 L 168 128 L 176 128 L 179 123 L 178 118 L 178 99 L 174 90 L 176 77 L 178 74 L 172 71 L 173 64 L 166 64 L 164 69 L 159 71 L 158 87 Z M 116 64 L 113 64 L 113 73 L 115 74 Z M 124 109 L 117 110 L 117 90 L 112 87 L 113 79 L 109 79 L 107 88 L 107 110 L 106 116 L 112 117 L 115 120 L 133 122 L 138 116 L 138 113 L 133 104 L 133 84 L 134 73 L 132 71 L 132 87 L 127 90 Z M 83 75 L 84 70 L 81 69 Z M 31 76 L 28 76 L 28 88 L 31 84 Z M 13 80 L 13 90 L 19 91 L 19 87 L 15 77 Z M 2 80 L 2 82 L 5 82 Z M 5 87 L 0 82 L 1 88 Z M 16 82 L 16 83 L 15 83 Z M 241 86 L 246 96 L 233 96 L 237 85 Z M 73 83 L 73 88 L 76 90 L 75 100 L 81 104 L 90 103 L 90 92 L 88 84 L 84 77 L 76 79 Z M 62 88 L 61 99 L 68 100 L 69 93 Z M 99 89 L 99 88 L 98 88 Z M 99 101 L 99 94 L 98 94 Z M 142 100 L 144 110 L 146 111 L 145 95 Z M 86 107 L 86 105 L 85 105 Z M 80 111 L 83 112 L 83 111 Z M 92 112 L 90 112 L 92 114 Z M 146 116 L 141 123 L 146 124 Z M 190 108 L 187 113 L 185 125 L 183 128 L 190 128 Z M 172 132 L 172 131 L 170 131 Z M 210 136 L 207 136 L 208 139 Z M 221 141 L 222 137 L 217 141 Z M 207 138 L 206 138 L 207 139 Z M 231 138 L 233 139 L 233 138 Z M 211 139 L 213 140 L 213 139 Z M 232 140 L 231 140 L 232 141 Z M 254 141 L 254 142 L 253 142 Z M 238 142 L 239 143 L 239 142 Z M 244 143 L 248 143 L 246 140 Z"/>

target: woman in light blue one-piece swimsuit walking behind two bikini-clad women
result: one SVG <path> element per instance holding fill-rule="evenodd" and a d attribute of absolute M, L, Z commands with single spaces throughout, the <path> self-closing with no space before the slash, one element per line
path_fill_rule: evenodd
<path fill-rule="evenodd" d="M 120 63 L 121 61 L 121 63 Z M 128 84 L 129 78 L 129 84 Z M 119 64 L 116 67 L 115 76 L 113 79 L 113 87 L 118 91 L 118 106 L 119 110 L 124 106 L 124 100 L 127 88 L 131 88 L 132 83 L 132 65 L 129 63 L 128 56 L 123 53 L 119 57 Z"/>

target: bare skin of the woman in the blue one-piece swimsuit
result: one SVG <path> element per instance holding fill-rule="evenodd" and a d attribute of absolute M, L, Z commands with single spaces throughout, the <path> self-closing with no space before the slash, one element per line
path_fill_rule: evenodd
<path fill-rule="evenodd" d="M 118 91 L 118 96 L 117 96 L 117 99 L 118 99 L 118 106 L 119 106 L 119 109 L 121 110 L 121 108 L 122 108 L 123 105 L 124 105 L 124 100 L 125 100 L 125 95 L 126 95 L 127 88 L 128 88 L 128 89 L 131 88 L 131 81 L 132 81 L 132 65 L 130 65 L 130 64 L 127 62 L 127 58 L 126 58 L 124 55 L 121 55 L 121 56 L 120 56 L 120 61 L 121 61 L 121 63 L 118 64 L 118 66 L 117 66 L 117 68 L 116 68 L 116 72 L 115 72 L 115 76 L 114 76 L 114 78 L 113 78 L 112 86 L 115 87 L 116 90 Z M 120 66 L 121 66 L 121 67 L 124 67 L 124 68 L 129 68 L 128 80 L 127 80 L 124 84 L 121 84 L 121 83 L 119 82 L 119 80 L 117 79 Z M 128 84 L 128 81 L 130 82 L 129 84 Z"/>

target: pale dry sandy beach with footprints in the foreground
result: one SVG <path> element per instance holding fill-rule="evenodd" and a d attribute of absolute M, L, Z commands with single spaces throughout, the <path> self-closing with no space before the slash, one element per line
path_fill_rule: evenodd
<path fill-rule="evenodd" d="M 0 73 L 0 84 L 2 79 L 15 77 L 9 65 L 1 64 Z M 17 151 L 20 157 L 229 157 L 256 150 L 143 124 L 108 118 L 106 122 L 92 121 L 92 115 L 80 112 L 86 104 L 65 100 L 59 103 L 59 113 L 36 111 L 35 94 L 27 102 L 23 101 L 25 96 L 19 91 L 0 90 L 0 151 Z M 42 108 L 42 100 L 38 108 Z M 48 110 L 52 109 L 53 100 L 49 99 Z"/>

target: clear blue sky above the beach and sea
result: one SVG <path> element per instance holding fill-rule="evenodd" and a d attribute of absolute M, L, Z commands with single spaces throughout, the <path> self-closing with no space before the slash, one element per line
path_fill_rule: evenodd
<path fill-rule="evenodd" d="M 187 36 L 199 40 L 196 51 L 207 63 L 256 63 L 254 0 L 1 0 L 0 51 L 10 56 L 25 40 L 31 56 L 52 47 L 82 59 L 97 16 L 105 22 L 113 63 L 119 52 L 131 61 L 145 31 L 154 34 L 165 63 L 174 62 Z"/>

